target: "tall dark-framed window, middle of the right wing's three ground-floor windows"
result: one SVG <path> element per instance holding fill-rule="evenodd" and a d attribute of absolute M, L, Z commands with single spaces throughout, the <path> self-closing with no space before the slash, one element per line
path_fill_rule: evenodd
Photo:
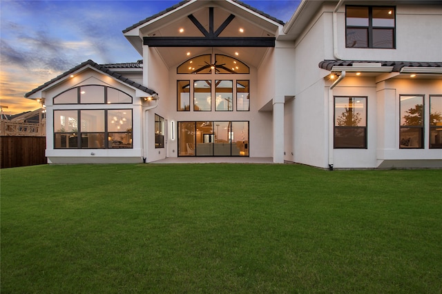
<path fill-rule="evenodd" d="M 400 148 L 423 148 L 423 95 L 401 95 Z"/>

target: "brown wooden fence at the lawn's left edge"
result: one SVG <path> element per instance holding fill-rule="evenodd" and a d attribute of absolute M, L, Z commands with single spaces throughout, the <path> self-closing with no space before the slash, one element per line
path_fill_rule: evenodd
<path fill-rule="evenodd" d="M 46 137 L 1 136 L 1 168 L 46 164 Z"/>

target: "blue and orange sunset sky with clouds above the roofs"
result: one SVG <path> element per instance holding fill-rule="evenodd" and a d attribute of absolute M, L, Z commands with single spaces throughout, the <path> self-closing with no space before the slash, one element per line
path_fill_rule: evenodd
<path fill-rule="evenodd" d="M 0 0 L 0 104 L 8 106 L 3 111 L 38 108 L 23 95 L 88 59 L 141 59 L 122 30 L 179 2 Z M 286 22 L 300 1 L 243 2 Z"/>

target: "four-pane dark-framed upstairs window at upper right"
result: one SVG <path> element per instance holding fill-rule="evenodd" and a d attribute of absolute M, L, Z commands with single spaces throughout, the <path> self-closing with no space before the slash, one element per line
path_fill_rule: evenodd
<path fill-rule="evenodd" d="M 394 49 L 396 12 L 387 6 L 347 6 L 345 47 Z"/>

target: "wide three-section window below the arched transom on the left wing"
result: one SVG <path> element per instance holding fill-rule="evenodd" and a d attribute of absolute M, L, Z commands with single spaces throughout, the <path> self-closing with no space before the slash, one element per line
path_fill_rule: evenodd
<path fill-rule="evenodd" d="M 54 148 L 133 148 L 132 110 L 54 110 Z"/>

